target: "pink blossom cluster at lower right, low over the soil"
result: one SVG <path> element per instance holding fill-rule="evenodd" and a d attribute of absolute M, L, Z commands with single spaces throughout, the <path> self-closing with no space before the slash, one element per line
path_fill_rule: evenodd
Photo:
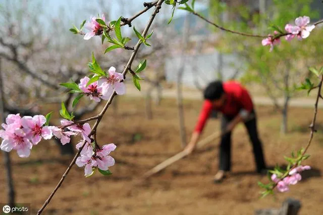
<path fill-rule="evenodd" d="M 277 184 L 276 188 L 280 192 L 289 191 L 289 185 L 295 185 L 302 179 L 302 176 L 299 174 L 301 171 L 310 169 L 310 166 L 302 166 L 299 165 L 293 169 L 291 169 L 288 173 L 288 176 L 283 180 L 280 180 L 276 174 L 272 175 L 272 181 Z"/>

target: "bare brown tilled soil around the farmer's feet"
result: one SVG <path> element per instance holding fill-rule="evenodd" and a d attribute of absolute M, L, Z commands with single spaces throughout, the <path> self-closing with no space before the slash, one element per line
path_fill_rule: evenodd
<path fill-rule="evenodd" d="M 199 101 L 184 102 L 187 138 L 200 105 Z M 284 155 L 289 156 L 292 150 L 306 146 L 312 109 L 290 109 L 286 136 L 279 133 L 281 118 L 272 107 L 257 107 L 257 114 L 268 165 L 283 165 Z M 162 100 L 159 106 L 153 105 L 153 119 L 148 120 L 143 99 L 118 98 L 118 111 L 109 109 L 97 137 L 100 145 L 117 145 L 111 154 L 116 159 L 115 166 L 111 167 L 113 175 L 104 177 L 95 173 L 85 178 L 84 169 L 73 166 L 43 214 L 245 215 L 254 214 L 255 209 L 280 207 L 287 197 L 301 201 L 301 215 L 323 214 L 323 167 L 320 166 L 323 113 L 320 110 L 318 132 L 308 151 L 311 157 L 304 162 L 313 169 L 305 171 L 301 183 L 292 186 L 290 192 L 277 194 L 276 199 L 259 199 L 261 189 L 257 182 L 266 183 L 267 178 L 254 174 L 252 148 L 243 125 L 233 134 L 232 174 L 222 184 L 211 181 L 218 168 L 218 141 L 174 163 L 145 183 L 132 184 L 133 179 L 181 150 L 177 116 L 175 100 Z M 219 125 L 219 120 L 209 120 L 203 137 L 218 131 Z M 0 156 L 2 161 L 3 154 Z M 29 158 L 19 158 L 15 152 L 11 156 L 17 202 L 31 203 L 32 214 L 35 214 L 61 179 L 72 157 L 62 157 L 53 142 L 39 143 Z M 3 165 L 0 165 L 0 171 L 5 173 Z M 6 192 L 5 174 L 1 174 L 0 202 L 7 201 Z"/>

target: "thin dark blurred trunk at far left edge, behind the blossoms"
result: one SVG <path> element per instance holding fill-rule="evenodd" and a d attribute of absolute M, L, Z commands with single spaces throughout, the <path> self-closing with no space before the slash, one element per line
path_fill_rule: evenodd
<path fill-rule="evenodd" d="M 2 66 L 1 66 L 2 59 L 0 58 L 0 115 L 2 117 L 2 121 L 5 122 L 5 94 L 4 94 L 4 85 L 3 85 L 3 75 L 2 75 Z M 11 207 L 15 206 L 15 189 L 13 185 L 13 178 L 12 178 L 12 169 L 11 169 L 11 160 L 9 152 L 3 151 L 4 154 L 4 163 L 6 168 L 6 175 L 7 175 L 7 187 L 8 187 L 8 205 Z"/>

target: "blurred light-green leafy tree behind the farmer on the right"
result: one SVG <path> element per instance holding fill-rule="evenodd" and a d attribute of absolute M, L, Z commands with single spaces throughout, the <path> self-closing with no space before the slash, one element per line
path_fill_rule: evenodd
<path fill-rule="evenodd" d="M 295 24 L 295 18 L 299 16 L 309 16 L 311 22 L 318 18 L 318 11 L 310 7 L 311 0 L 251 2 L 254 5 L 243 1 L 210 1 L 211 19 L 221 23 L 219 17 L 222 14 L 227 17 L 224 22 L 226 28 L 263 35 L 273 34 L 277 27 L 285 31 L 286 23 Z M 216 45 L 216 49 L 222 53 L 235 53 L 241 57 L 247 70 L 240 81 L 243 84 L 257 83 L 272 99 L 276 110 L 282 114 L 283 134 L 288 132 L 290 100 L 296 96 L 306 96 L 304 92 L 297 90 L 300 82 L 310 78 L 309 66 L 322 63 L 320 59 L 323 50 L 319 45 L 323 41 L 321 33 L 321 28 L 316 26 L 310 39 L 298 41 L 294 38 L 288 42 L 282 37 L 281 45 L 276 46 L 272 53 L 269 52 L 269 47 L 261 46 L 261 38 L 242 37 L 232 33 L 221 34 L 220 42 Z M 280 102 L 282 98 L 283 101 Z"/>

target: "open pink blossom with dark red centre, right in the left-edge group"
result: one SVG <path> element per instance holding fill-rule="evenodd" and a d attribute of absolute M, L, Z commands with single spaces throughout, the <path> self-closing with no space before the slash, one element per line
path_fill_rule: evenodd
<path fill-rule="evenodd" d="M 52 137 L 49 126 L 43 126 L 45 122 L 46 118 L 43 115 L 24 116 L 21 118 L 21 124 L 24 127 L 22 129 L 34 145 L 40 142 L 41 137 L 45 140 L 49 140 Z"/>

